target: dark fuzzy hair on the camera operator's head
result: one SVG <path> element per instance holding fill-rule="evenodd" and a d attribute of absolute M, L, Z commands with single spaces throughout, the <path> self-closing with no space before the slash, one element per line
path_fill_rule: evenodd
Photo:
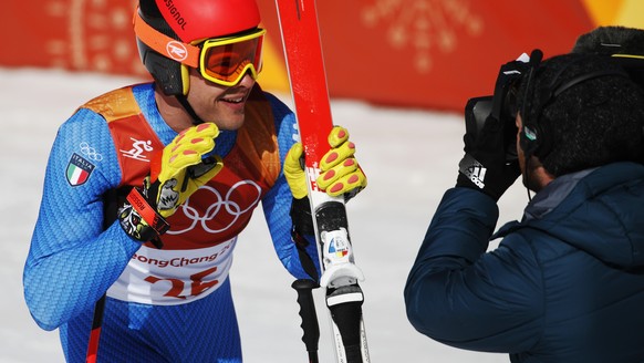
<path fill-rule="evenodd" d="M 580 76 L 582 81 L 565 86 Z M 606 56 L 553 56 L 538 66 L 530 82 L 522 80 L 517 101 L 523 126 L 533 125 L 534 142 L 548 145 L 533 155 L 554 177 L 644 160 L 644 91 Z"/>

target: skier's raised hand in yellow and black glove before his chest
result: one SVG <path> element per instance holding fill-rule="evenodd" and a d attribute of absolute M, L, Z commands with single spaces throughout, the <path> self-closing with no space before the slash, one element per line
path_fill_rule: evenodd
<path fill-rule="evenodd" d="M 153 159 L 150 175 L 143 188 L 134 188 L 121 209 L 124 230 L 142 241 L 158 240 L 169 225 L 172 216 L 199 187 L 224 167 L 219 156 L 208 156 L 215 148 L 219 129 L 212 123 L 193 126 L 179 133 Z"/>

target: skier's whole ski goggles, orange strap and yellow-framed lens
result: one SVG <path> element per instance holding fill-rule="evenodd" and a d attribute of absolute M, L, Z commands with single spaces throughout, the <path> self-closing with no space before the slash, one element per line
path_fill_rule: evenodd
<path fill-rule="evenodd" d="M 158 32 L 135 11 L 134 32 L 147 46 L 183 65 L 199 70 L 204 79 L 216 84 L 232 86 L 247 73 L 257 80 L 261 72 L 264 29 L 188 44 Z"/>

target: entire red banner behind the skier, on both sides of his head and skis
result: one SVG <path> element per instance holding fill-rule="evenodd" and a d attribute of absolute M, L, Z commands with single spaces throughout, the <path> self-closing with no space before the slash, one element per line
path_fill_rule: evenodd
<path fill-rule="evenodd" d="M 132 30 L 136 3 L 10 1 L 0 66 L 146 75 Z M 274 1 L 258 3 L 269 30 L 260 82 L 287 91 Z M 318 8 L 331 96 L 438 110 L 490 94 L 500 64 L 522 52 L 568 52 L 594 28 L 584 0 L 318 0 Z"/>

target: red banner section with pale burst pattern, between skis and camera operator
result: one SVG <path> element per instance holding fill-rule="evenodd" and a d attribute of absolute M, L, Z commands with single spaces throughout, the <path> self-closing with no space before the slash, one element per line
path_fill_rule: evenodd
<path fill-rule="evenodd" d="M 577 0 L 318 1 L 334 96 L 463 110 L 500 64 L 570 51 L 593 28 Z"/>

